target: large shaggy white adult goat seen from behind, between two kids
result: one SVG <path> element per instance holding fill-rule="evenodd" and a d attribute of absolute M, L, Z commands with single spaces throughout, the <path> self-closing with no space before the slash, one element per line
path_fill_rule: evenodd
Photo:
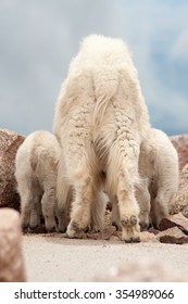
<path fill-rule="evenodd" d="M 58 178 L 60 211 L 64 213 L 72 201 L 70 238 L 82 237 L 91 226 L 101 227 L 104 187 L 110 200 L 118 202 L 122 239 L 139 241 L 134 186 L 140 142 L 149 127 L 126 45 L 103 36 L 87 37 L 62 85 L 53 126 L 63 149 Z"/>

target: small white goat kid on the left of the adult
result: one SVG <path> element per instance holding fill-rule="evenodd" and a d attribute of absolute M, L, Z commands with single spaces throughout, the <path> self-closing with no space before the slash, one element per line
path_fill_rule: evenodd
<path fill-rule="evenodd" d="M 61 148 L 54 135 L 39 130 L 30 134 L 17 150 L 15 178 L 21 197 L 23 228 L 40 225 L 55 229 L 55 189 Z"/>

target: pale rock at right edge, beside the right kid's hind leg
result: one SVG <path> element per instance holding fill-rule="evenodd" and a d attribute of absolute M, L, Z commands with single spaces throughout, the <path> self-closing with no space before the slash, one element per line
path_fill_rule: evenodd
<path fill-rule="evenodd" d="M 184 216 L 188 217 L 188 164 L 183 168 L 179 189 L 170 206 L 171 214 L 179 212 L 181 212 Z"/>

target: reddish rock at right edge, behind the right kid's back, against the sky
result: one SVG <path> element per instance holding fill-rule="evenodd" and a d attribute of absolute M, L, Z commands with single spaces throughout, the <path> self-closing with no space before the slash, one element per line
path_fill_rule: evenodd
<path fill-rule="evenodd" d="M 188 135 L 176 135 L 170 137 L 172 143 L 177 150 L 179 159 L 179 169 L 188 164 Z"/>

